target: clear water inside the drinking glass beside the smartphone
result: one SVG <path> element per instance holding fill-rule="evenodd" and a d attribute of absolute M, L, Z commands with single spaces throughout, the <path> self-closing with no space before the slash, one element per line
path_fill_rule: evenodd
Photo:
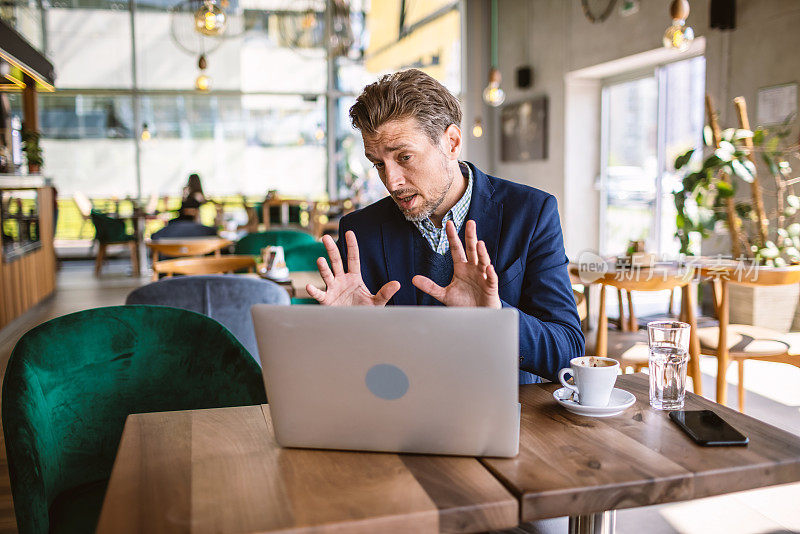
<path fill-rule="evenodd" d="M 685 348 L 672 344 L 650 346 L 650 405 L 659 410 L 683 408 L 686 392 Z"/>

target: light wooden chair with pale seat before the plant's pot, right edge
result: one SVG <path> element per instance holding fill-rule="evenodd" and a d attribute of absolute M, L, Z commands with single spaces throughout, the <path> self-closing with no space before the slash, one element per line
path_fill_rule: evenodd
<path fill-rule="evenodd" d="M 717 358 L 717 402 L 727 402 L 726 374 L 731 362 L 739 367 L 739 411 L 744 411 L 744 362 L 762 360 L 788 363 L 800 367 L 800 334 L 784 334 L 769 328 L 746 324 L 730 324 L 728 285 L 781 286 L 800 283 L 800 267 L 781 269 L 707 268 L 701 275 L 709 279 L 714 290 L 714 307 L 718 327 L 698 329 L 700 350 Z"/>

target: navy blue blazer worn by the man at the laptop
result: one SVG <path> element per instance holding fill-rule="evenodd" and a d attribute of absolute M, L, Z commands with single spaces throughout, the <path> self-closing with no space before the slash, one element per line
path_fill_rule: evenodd
<path fill-rule="evenodd" d="M 585 340 L 567 271 L 556 199 L 467 165 L 473 176 L 467 220 L 475 221 L 478 239 L 486 243 L 503 307 L 519 312 L 520 369 L 557 381 L 559 369 L 569 367 L 571 358 L 583 356 Z M 415 305 L 419 290 L 411 278 L 416 274 L 414 234 L 419 230 L 403 217 L 394 200 L 386 197 L 342 218 L 342 258 L 347 257 L 344 234 L 348 230 L 358 240 L 367 288 L 375 293 L 397 280 L 400 290 L 389 304 Z M 536 381 L 529 373 L 520 373 L 520 383 Z"/>

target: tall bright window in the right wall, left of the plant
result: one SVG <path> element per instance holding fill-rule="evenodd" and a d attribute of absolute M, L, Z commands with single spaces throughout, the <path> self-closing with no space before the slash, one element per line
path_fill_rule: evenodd
<path fill-rule="evenodd" d="M 623 254 L 642 240 L 650 252 L 677 254 L 676 156 L 700 144 L 705 59 L 661 66 L 603 88 L 601 245 Z"/>

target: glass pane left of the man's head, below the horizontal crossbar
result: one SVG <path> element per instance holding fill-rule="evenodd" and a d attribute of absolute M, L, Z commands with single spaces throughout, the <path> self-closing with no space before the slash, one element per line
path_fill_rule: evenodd
<path fill-rule="evenodd" d="M 148 96 L 142 112 L 152 132 L 141 145 L 145 196 L 178 195 L 192 172 L 210 196 L 325 192 L 323 98 Z"/>

